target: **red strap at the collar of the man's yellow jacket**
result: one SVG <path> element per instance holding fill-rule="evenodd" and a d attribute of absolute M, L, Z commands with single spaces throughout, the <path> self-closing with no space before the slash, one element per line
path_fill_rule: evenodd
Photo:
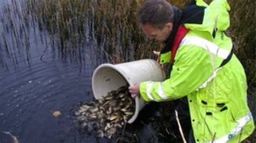
<path fill-rule="evenodd" d="M 178 31 L 174 37 L 172 48 L 171 48 L 172 49 L 171 63 L 174 62 L 174 57 L 179 48 L 179 44 L 180 44 L 181 40 L 185 37 L 185 35 L 187 34 L 188 31 L 189 30 L 187 28 L 185 28 L 183 24 L 179 25 Z"/>

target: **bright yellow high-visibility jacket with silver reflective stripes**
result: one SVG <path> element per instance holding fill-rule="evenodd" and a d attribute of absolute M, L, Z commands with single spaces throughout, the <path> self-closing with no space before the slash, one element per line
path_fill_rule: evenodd
<path fill-rule="evenodd" d="M 245 71 L 234 54 L 230 57 L 233 45 L 224 33 L 230 26 L 230 6 L 226 0 L 195 5 L 203 8 L 195 12 L 203 12 L 201 23 L 183 22 L 189 32 L 179 44 L 170 78 L 140 83 L 140 96 L 146 102 L 187 96 L 196 142 L 239 142 L 253 132 L 254 123 L 246 101 Z M 170 56 L 162 54 L 161 63 Z"/>

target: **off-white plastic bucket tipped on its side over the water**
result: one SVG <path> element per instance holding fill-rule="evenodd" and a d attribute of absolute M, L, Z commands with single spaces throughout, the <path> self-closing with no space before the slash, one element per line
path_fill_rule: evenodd
<path fill-rule="evenodd" d="M 92 90 L 96 99 L 102 98 L 112 90 L 143 81 L 163 81 L 164 71 L 158 62 L 150 59 L 112 65 L 105 63 L 98 66 L 92 76 Z M 135 113 L 128 123 L 133 123 L 139 111 L 145 106 L 143 99 L 135 98 Z"/>

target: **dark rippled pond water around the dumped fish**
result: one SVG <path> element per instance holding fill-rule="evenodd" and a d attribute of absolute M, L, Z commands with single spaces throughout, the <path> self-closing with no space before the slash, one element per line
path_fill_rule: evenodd
<path fill-rule="evenodd" d="M 13 2 L 23 8 L 21 1 L 0 0 L 0 132 L 20 142 L 116 142 L 82 133 L 73 118 L 81 101 L 93 100 L 93 70 L 106 62 L 98 58 L 95 40 L 63 51 L 35 19 L 20 17 Z M 61 115 L 54 117 L 55 111 Z M 142 120 L 129 128 L 123 134 L 128 141 L 157 140 Z"/>

